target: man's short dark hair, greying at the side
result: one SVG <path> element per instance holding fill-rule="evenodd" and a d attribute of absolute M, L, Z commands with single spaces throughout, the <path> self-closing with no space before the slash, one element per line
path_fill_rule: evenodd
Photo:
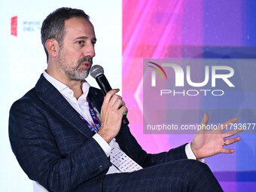
<path fill-rule="evenodd" d="M 90 20 L 90 17 L 83 10 L 73 8 L 58 8 L 44 20 L 41 26 L 41 43 L 47 55 L 47 62 L 49 56 L 45 42 L 50 38 L 54 38 L 59 43 L 59 46 L 62 47 L 62 41 L 65 35 L 65 21 L 72 17 L 83 17 Z"/>

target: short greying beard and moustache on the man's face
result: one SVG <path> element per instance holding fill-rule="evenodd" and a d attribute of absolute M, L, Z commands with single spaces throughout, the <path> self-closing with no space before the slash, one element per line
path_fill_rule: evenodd
<path fill-rule="evenodd" d="M 90 69 L 84 69 L 81 67 L 83 62 L 90 62 L 90 65 L 93 65 L 93 58 L 92 57 L 84 57 L 78 60 L 77 65 L 75 67 L 69 67 L 66 62 L 66 58 L 62 51 L 59 51 L 59 68 L 62 69 L 67 77 L 71 80 L 81 81 L 88 77 Z M 73 63 L 72 63 L 73 64 Z M 73 65 L 72 65 L 73 66 Z"/>

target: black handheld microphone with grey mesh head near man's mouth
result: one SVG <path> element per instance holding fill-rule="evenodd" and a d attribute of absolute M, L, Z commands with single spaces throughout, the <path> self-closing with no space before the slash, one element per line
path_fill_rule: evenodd
<path fill-rule="evenodd" d="M 99 65 L 92 66 L 92 68 L 90 69 L 90 75 L 96 79 L 104 96 L 108 93 L 108 91 L 112 90 L 110 84 L 108 83 L 107 78 L 105 78 L 104 69 L 102 68 L 102 66 L 99 66 Z M 130 123 L 126 117 L 126 113 L 123 114 L 122 123 L 124 126 Z"/>

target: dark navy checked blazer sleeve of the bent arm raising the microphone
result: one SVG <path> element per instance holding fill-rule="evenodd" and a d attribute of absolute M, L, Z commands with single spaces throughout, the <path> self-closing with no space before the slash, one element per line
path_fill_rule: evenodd
<path fill-rule="evenodd" d="M 111 166 L 93 138 L 84 139 L 78 148 L 63 156 L 47 117 L 26 99 L 11 107 L 9 138 L 23 171 L 50 191 L 73 190 L 85 181 L 105 175 Z"/>

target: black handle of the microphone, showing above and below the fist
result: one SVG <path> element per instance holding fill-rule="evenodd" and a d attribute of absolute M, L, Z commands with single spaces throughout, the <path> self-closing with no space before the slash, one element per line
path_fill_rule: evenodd
<path fill-rule="evenodd" d="M 102 90 L 102 93 L 103 93 L 104 96 L 108 93 L 108 91 L 112 90 L 112 88 L 111 88 L 110 84 L 108 83 L 107 78 L 105 78 L 104 74 L 97 76 L 96 81 L 99 84 L 99 87 Z M 126 126 L 129 123 L 130 122 L 126 117 L 126 113 L 123 114 L 123 119 L 122 119 L 123 126 Z"/>

